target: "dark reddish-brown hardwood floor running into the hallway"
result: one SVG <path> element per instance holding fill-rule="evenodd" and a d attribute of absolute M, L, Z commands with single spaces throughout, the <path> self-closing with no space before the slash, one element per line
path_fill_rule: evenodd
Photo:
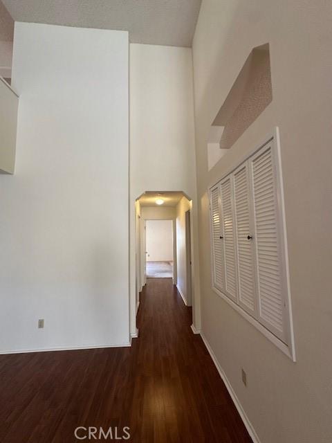
<path fill-rule="evenodd" d="M 77 426 L 118 436 L 129 426 L 124 441 L 136 443 L 250 443 L 191 320 L 172 280 L 152 279 L 132 347 L 0 356 L 0 442 L 79 442 Z"/>

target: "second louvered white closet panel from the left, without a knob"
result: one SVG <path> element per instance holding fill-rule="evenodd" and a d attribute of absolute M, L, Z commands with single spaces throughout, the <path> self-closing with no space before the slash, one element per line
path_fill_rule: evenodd
<path fill-rule="evenodd" d="M 237 301 L 237 269 L 235 262 L 234 216 L 232 206 L 232 177 L 221 182 L 221 217 L 225 257 L 225 293 Z"/>

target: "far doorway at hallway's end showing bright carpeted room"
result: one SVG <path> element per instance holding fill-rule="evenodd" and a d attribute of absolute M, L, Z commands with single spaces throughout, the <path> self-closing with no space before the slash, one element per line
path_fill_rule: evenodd
<path fill-rule="evenodd" d="M 173 220 L 146 220 L 147 278 L 173 278 Z"/>

